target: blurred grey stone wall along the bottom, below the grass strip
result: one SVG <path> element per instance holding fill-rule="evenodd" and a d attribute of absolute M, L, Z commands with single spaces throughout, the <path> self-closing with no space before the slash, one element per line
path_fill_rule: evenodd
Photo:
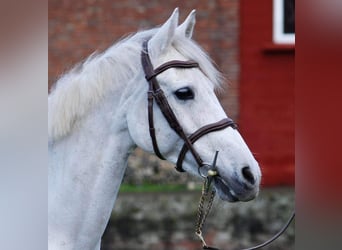
<path fill-rule="evenodd" d="M 102 237 L 101 250 L 202 249 L 195 235 L 200 191 L 120 193 Z M 203 226 L 208 245 L 246 249 L 271 238 L 294 207 L 293 188 L 263 190 L 252 202 L 228 204 L 215 199 Z M 294 223 L 264 250 L 294 250 Z"/>

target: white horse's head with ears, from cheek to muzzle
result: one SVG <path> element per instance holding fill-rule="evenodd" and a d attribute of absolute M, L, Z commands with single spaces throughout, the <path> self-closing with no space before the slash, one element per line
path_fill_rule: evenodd
<path fill-rule="evenodd" d="M 145 42 L 146 48 L 142 48 L 142 50 L 148 48 L 148 51 L 143 53 L 148 54 L 153 69 L 165 63 L 167 69 L 166 66 L 162 66 L 161 70 L 157 70 L 158 72 L 152 71 L 155 75 L 146 76 L 146 69 L 143 69 L 142 65 L 139 79 L 136 79 L 138 87 L 134 92 L 134 102 L 127 114 L 130 135 L 139 147 L 153 152 L 156 151 L 156 146 L 153 145 L 151 134 L 148 133 L 152 129 L 160 157 L 172 163 L 179 161 L 179 154 L 185 147 L 187 153 L 182 160 L 181 168 L 198 176 L 203 174 L 201 166 L 198 166 L 196 154 L 203 165 L 212 166 L 210 164 L 218 151 L 215 159 L 217 174 L 213 180 L 220 198 L 230 202 L 249 201 L 259 192 L 261 172 L 257 161 L 235 126 L 225 126 L 205 133 L 200 135 L 196 142 L 191 142 L 190 146 L 184 146 L 186 139 L 172 128 L 160 104 L 156 103 L 156 94 L 151 94 L 152 101 L 147 100 L 146 93 L 154 88 L 149 82 L 153 78 L 163 92 L 186 138 L 208 124 L 217 124 L 218 121 L 227 119 L 215 94 L 215 91 L 220 88 L 221 75 L 208 56 L 191 39 L 195 26 L 195 11 L 192 11 L 179 26 L 178 15 L 176 9 Z M 174 66 L 168 65 L 168 62 L 174 60 L 183 64 L 188 60 L 195 63 L 189 67 L 181 67 L 177 63 Z M 153 128 L 148 119 L 149 105 L 154 105 L 151 111 Z M 193 147 L 195 155 L 189 147 Z"/>

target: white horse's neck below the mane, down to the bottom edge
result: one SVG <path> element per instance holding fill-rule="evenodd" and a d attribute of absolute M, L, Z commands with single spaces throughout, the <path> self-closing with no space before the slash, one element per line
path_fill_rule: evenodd
<path fill-rule="evenodd" d="M 104 232 L 134 147 L 119 95 L 117 91 L 108 94 L 75 124 L 70 135 L 49 145 L 52 248 L 73 242 L 83 244 L 75 249 L 89 249 Z M 80 237 L 87 240 L 77 240 Z"/>

